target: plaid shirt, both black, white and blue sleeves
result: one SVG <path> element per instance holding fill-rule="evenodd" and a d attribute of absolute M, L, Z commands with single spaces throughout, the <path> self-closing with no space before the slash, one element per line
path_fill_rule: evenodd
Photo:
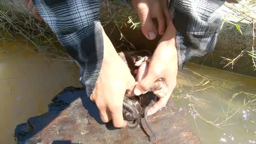
<path fill-rule="evenodd" d="M 177 29 L 178 64 L 214 49 L 222 20 L 219 7 L 224 0 L 169 0 Z M 44 21 L 81 68 L 81 83 L 90 96 L 103 60 L 100 2 L 96 0 L 34 0 Z"/>

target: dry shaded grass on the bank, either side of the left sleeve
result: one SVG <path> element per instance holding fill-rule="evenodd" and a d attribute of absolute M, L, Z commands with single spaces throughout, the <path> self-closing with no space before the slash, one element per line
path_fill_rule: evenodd
<path fill-rule="evenodd" d="M 2 3 L 3 2 L 7 1 L 3 0 Z M 23 1 L 17 2 L 19 3 L 18 5 L 20 5 L 19 8 L 22 7 L 20 2 Z M 116 6 L 117 3 L 118 6 Z M 0 4 L 0 40 L 2 39 L 4 41 L 29 42 L 37 48 L 37 50 L 33 51 L 46 50 L 47 52 L 49 52 L 49 55 L 55 54 L 60 57 L 68 58 L 68 55 L 62 49 L 57 37 L 55 37 L 55 35 L 52 33 L 49 26 L 47 26 L 44 22 L 35 19 L 31 12 L 29 12 L 28 15 L 20 15 L 13 12 L 14 8 L 12 5 L 13 4 L 9 3 L 9 7 L 6 8 L 3 6 L 3 4 Z M 16 7 L 17 6 L 15 6 L 15 9 Z M 102 1 L 101 7 L 103 10 L 101 14 L 102 26 L 104 27 L 109 23 L 113 25 L 114 23 L 114 26 L 109 36 L 113 33 L 113 31 L 119 31 L 119 40 L 127 43 L 127 49 L 135 49 L 134 45 L 129 42 L 126 36 L 122 33 L 122 27 L 130 27 L 130 22 L 134 24 L 133 21 L 138 20 L 135 11 L 132 11 L 129 8 L 131 7 L 131 3 L 119 3 L 118 1 L 106 0 Z M 131 26 L 134 27 L 133 25 Z M 138 23 L 135 27 L 138 27 Z M 2 51 L 4 51 L 4 49 Z"/>

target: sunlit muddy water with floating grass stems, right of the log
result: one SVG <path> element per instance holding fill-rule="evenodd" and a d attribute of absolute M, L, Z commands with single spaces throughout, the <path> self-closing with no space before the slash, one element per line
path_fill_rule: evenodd
<path fill-rule="evenodd" d="M 191 64 L 180 72 L 173 97 L 203 143 L 256 143 L 255 78 Z"/>

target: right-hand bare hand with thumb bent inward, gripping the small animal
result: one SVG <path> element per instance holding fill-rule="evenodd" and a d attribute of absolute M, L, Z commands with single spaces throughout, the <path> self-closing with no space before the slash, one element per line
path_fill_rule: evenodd
<path fill-rule="evenodd" d="M 167 86 L 166 95 L 160 98 L 148 110 L 148 115 L 156 113 L 159 109 L 165 107 L 173 89 L 176 86 L 178 73 L 178 55 L 176 48 L 176 30 L 172 21 L 166 29 L 166 33 L 159 41 L 157 48 L 149 62 L 148 72 L 144 78 L 135 86 L 133 93 L 140 95 L 149 90 L 153 83 L 161 78 Z M 155 93 L 157 95 L 157 93 Z"/>

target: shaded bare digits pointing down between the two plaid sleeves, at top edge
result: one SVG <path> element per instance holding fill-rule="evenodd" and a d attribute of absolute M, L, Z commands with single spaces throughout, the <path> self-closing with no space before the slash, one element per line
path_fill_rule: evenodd
<path fill-rule="evenodd" d="M 148 39 L 155 39 L 157 31 L 159 35 L 164 35 L 166 23 L 171 19 L 167 0 L 132 0 L 132 4 L 139 15 L 142 33 Z M 158 30 L 154 18 L 158 21 Z"/>

